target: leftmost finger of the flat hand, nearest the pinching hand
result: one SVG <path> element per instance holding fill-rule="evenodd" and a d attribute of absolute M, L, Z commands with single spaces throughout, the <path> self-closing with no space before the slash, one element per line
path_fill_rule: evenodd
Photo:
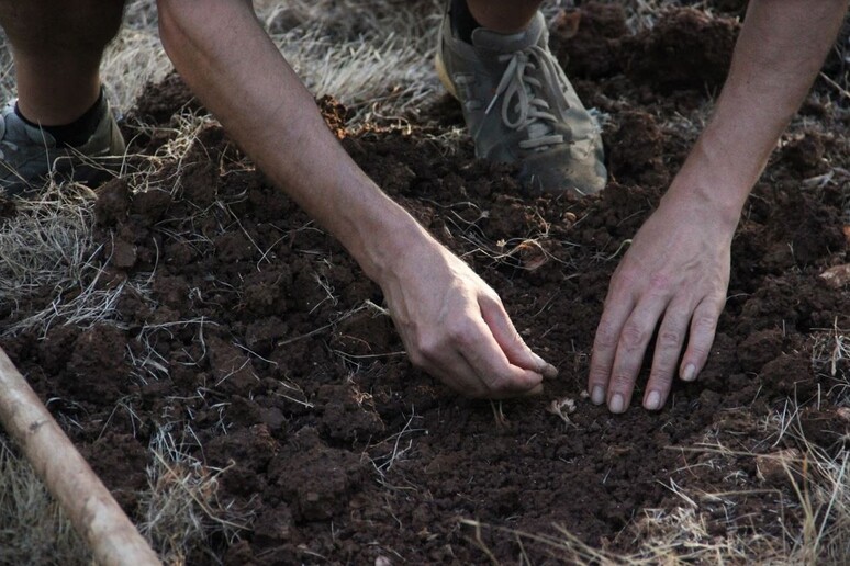
<path fill-rule="evenodd" d="M 611 370 L 617 353 L 619 332 L 634 307 L 635 302 L 631 294 L 612 292 L 605 299 L 605 309 L 593 339 L 593 354 L 588 376 L 588 393 L 596 405 L 605 403 Z"/>

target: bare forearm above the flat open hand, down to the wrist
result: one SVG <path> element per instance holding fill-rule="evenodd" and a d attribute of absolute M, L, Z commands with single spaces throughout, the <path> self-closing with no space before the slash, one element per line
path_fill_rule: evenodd
<path fill-rule="evenodd" d="M 671 186 L 671 197 L 696 197 L 734 228 L 776 140 L 817 76 L 847 4 L 750 2 L 714 115 Z"/>

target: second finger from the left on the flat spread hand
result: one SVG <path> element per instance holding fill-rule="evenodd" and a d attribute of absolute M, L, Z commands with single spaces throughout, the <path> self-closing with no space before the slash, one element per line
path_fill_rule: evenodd
<path fill-rule="evenodd" d="M 667 299 L 663 296 L 650 295 L 638 304 L 623 325 L 611 371 L 607 395 L 611 412 L 625 412 L 628 408 L 644 354 L 666 307 Z"/>

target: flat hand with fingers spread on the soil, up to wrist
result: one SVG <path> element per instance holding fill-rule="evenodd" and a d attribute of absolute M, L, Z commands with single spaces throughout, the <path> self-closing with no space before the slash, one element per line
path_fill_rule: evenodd
<path fill-rule="evenodd" d="M 593 343 L 588 381 L 593 403 L 607 401 L 612 412 L 628 408 L 656 329 L 644 407 L 663 407 L 676 373 L 696 380 L 726 302 L 736 223 L 692 195 L 668 192 L 612 278 Z"/>

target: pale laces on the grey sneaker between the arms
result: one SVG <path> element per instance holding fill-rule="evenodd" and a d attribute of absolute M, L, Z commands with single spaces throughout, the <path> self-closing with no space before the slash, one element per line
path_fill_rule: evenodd
<path fill-rule="evenodd" d="M 545 49 L 533 45 L 521 52 L 502 55 L 501 63 L 507 61 L 507 68 L 502 80 L 499 81 L 495 94 L 490 101 L 485 113 L 495 105 L 500 95 L 502 99 L 502 123 L 512 129 L 527 129 L 528 139 L 519 142 L 523 149 L 544 150 L 549 146 L 563 144 L 563 136 L 552 134 L 550 124 L 558 122 L 551 113 L 549 103 L 536 97 L 535 92 L 544 89 L 544 84 L 551 84 L 558 80 L 559 68 L 552 56 Z M 543 81 L 533 77 L 527 71 L 539 69 Z M 516 118 L 511 120 L 511 113 L 516 113 Z"/>

